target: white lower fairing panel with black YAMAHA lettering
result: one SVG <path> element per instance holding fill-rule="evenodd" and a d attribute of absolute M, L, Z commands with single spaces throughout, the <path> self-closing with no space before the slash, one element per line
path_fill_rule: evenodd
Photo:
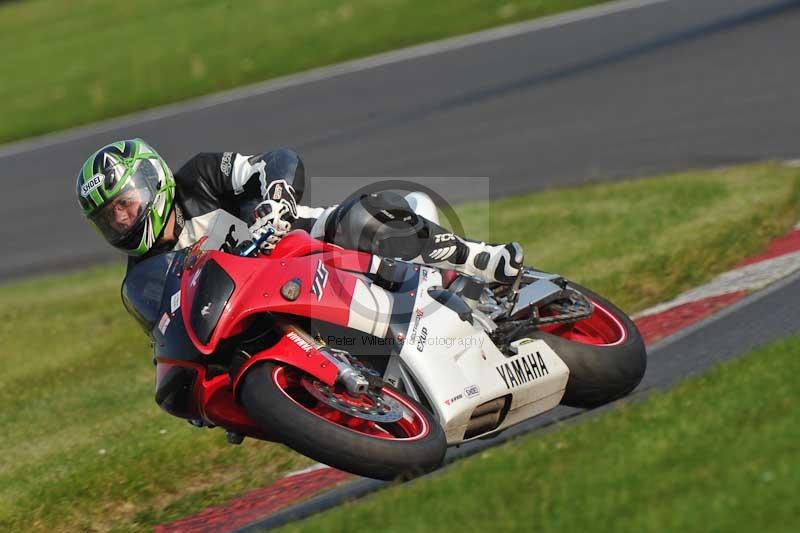
<path fill-rule="evenodd" d="M 433 300 L 427 289 L 441 286 L 437 270 L 420 269 L 414 313 L 400 358 L 431 400 L 448 444 L 464 441 L 475 408 L 510 395 L 509 410 L 496 430 L 558 405 L 569 370 L 541 340 L 512 344 L 516 355 L 500 352 L 485 331 L 461 320 Z"/>

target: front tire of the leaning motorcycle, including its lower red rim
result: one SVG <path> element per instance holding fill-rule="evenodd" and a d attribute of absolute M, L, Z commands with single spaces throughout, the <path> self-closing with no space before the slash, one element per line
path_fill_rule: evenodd
<path fill-rule="evenodd" d="M 413 423 L 404 417 L 396 424 L 381 424 L 372 430 L 386 434 L 376 436 L 315 412 L 319 405 L 304 398 L 299 387 L 290 386 L 284 372 L 302 374 L 267 361 L 247 372 L 240 392 L 248 414 L 274 440 L 327 465 L 377 479 L 410 477 L 441 465 L 447 449 L 442 427 L 424 407 L 396 389 L 386 385 L 383 395 L 399 402 Z"/>

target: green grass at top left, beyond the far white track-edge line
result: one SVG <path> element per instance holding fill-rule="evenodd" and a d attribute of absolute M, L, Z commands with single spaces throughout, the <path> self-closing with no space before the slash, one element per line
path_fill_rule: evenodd
<path fill-rule="evenodd" d="M 5 2 L 0 142 L 600 1 Z"/>

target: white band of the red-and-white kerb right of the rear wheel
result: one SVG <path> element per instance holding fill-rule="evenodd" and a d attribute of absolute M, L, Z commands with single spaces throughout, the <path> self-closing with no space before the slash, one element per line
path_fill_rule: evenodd
<path fill-rule="evenodd" d="M 711 283 L 685 292 L 669 302 L 656 305 L 635 315 L 642 318 L 669 311 L 687 303 L 713 298 L 739 291 L 753 292 L 800 270 L 800 252 L 792 252 L 759 263 L 726 272 Z"/>

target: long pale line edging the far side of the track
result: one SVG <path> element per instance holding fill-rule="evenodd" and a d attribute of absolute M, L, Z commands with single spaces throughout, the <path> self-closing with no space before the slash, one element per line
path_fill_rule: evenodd
<path fill-rule="evenodd" d="M 534 20 L 508 24 L 506 26 L 500 26 L 489 30 L 461 35 L 458 37 L 450 37 L 448 39 L 433 41 L 426 44 L 401 48 L 392 52 L 386 52 L 362 59 L 321 67 L 318 69 L 301 72 L 299 74 L 292 74 L 266 82 L 247 85 L 237 89 L 232 89 L 230 91 L 224 91 L 175 104 L 155 107 L 148 111 L 124 115 L 86 126 L 79 126 L 56 133 L 50 133 L 31 139 L 9 143 L 0 146 L 0 157 L 8 157 L 24 152 L 30 152 L 56 144 L 62 144 L 85 137 L 91 137 L 92 135 L 98 135 L 119 128 L 135 126 L 146 122 L 153 122 L 163 118 L 181 115 L 184 113 L 191 113 L 201 109 L 208 109 L 210 107 L 218 106 L 228 102 L 243 100 L 253 96 L 260 96 L 289 87 L 297 87 L 298 85 L 328 80 L 338 76 L 343 76 L 345 74 L 352 74 L 354 72 L 369 70 L 384 65 L 390 65 L 392 63 L 399 63 L 401 61 L 408 61 L 410 59 L 417 59 L 435 54 L 441 54 L 444 52 L 450 52 L 453 50 L 459 50 L 469 46 L 507 39 L 509 37 L 515 37 L 517 35 L 532 33 L 549 28 L 556 28 L 558 26 L 565 26 L 567 24 L 580 22 L 582 20 L 604 17 L 614 13 L 638 9 L 652 4 L 661 4 L 668 1 L 670 0 L 617 0 L 616 2 L 591 6 L 567 13 L 552 15 L 549 17 L 541 17 Z"/>

